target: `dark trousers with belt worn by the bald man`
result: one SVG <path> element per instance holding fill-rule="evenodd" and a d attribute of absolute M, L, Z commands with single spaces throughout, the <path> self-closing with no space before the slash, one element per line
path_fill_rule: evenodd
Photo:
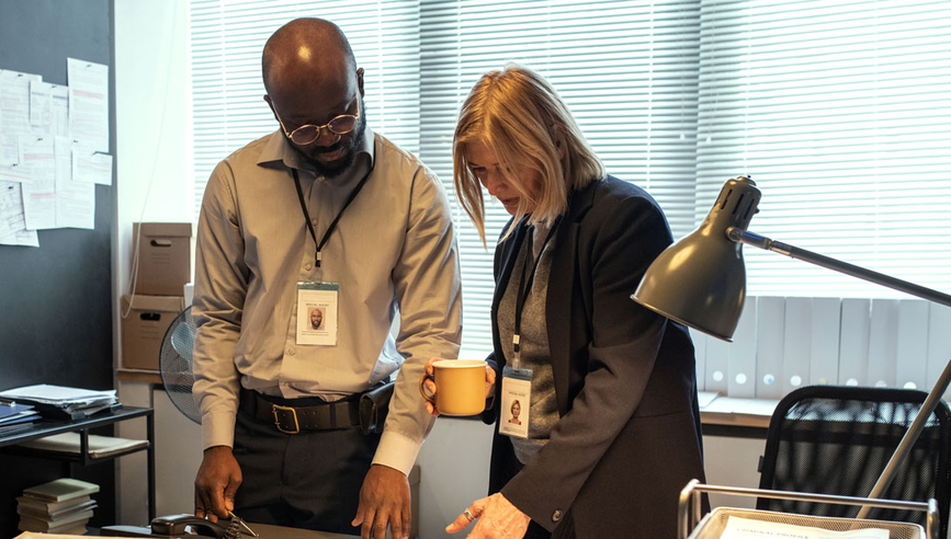
<path fill-rule="evenodd" d="M 252 523 L 359 532 L 350 521 L 378 444 L 378 434 L 360 427 L 284 434 L 239 411 L 235 458 L 244 481 L 235 514 Z"/>

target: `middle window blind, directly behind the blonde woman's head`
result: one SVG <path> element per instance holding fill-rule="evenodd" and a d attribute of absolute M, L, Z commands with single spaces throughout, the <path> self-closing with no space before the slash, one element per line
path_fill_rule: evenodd
<path fill-rule="evenodd" d="M 486 199 L 486 250 L 452 190 L 458 108 L 486 71 L 514 60 L 545 76 L 608 172 L 648 190 L 681 234 L 692 229 L 695 2 L 424 1 L 420 24 L 420 156 L 455 210 L 464 355 L 491 349 L 494 244 L 510 217 Z"/>

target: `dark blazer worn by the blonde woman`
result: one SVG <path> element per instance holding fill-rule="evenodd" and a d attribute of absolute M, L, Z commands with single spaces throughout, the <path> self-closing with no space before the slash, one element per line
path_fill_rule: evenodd
<path fill-rule="evenodd" d="M 527 228 L 496 249 L 489 363 L 499 374 L 498 305 Z M 667 220 L 647 193 L 609 176 L 570 195 L 555 233 L 545 316 L 562 417 L 514 473 L 498 406 L 483 414 L 496 423 L 489 491 L 548 530 L 570 511 L 579 539 L 672 538 L 680 490 L 704 479 L 693 344 L 630 299 L 672 241 Z"/>

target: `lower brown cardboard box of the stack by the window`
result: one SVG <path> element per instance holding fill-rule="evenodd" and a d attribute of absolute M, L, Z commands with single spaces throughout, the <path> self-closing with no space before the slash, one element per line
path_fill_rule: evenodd
<path fill-rule="evenodd" d="M 179 312 L 185 308 L 181 296 L 122 297 L 122 366 L 127 369 L 159 369 L 162 339 Z"/>

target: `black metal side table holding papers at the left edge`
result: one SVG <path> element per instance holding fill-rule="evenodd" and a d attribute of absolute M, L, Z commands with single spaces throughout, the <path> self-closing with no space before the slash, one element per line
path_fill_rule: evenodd
<path fill-rule="evenodd" d="M 148 445 L 138 447 L 127 451 L 117 452 L 107 457 L 93 459 L 89 455 L 89 429 L 113 425 L 120 421 L 132 420 L 135 417 L 146 418 L 146 436 Z M 70 455 L 64 452 L 42 451 L 25 447 L 18 447 L 37 438 L 53 436 L 54 434 L 63 433 L 79 433 L 79 455 Z M 155 518 L 155 412 L 150 408 L 123 406 L 112 412 L 100 412 L 91 417 L 76 421 L 65 420 L 41 420 L 33 427 L 25 431 L 19 431 L 5 436 L 0 436 L 0 450 L 10 455 L 21 455 L 35 458 L 47 458 L 52 460 L 65 460 L 69 462 L 79 462 L 82 466 L 89 466 L 99 462 L 105 462 L 124 455 L 140 451 L 145 449 L 148 454 L 148 517 Z"/>

